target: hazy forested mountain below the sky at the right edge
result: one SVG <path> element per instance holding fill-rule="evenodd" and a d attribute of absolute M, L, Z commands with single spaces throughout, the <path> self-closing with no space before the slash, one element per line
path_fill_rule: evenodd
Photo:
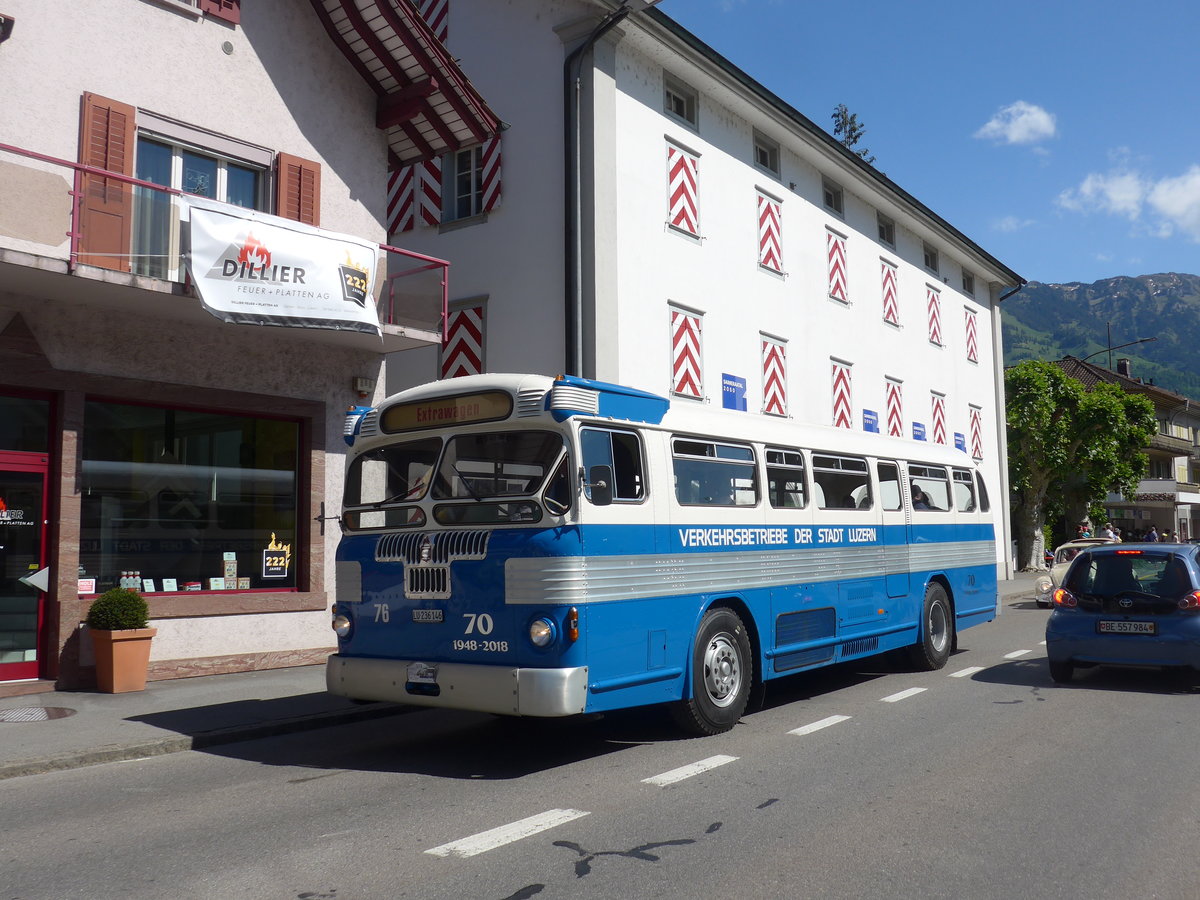
<path fill-rule="evenodd" d="M 1004 365 L 1070 355 L 1109 366 L 1106 347 L 1134 378 L 1200 400 L 1200 276 L 1166 272 L 1091 284 L 1031 281 L 1000 307 Z M 1111 335 L 1111 343 L 1109 337 Z"/>

